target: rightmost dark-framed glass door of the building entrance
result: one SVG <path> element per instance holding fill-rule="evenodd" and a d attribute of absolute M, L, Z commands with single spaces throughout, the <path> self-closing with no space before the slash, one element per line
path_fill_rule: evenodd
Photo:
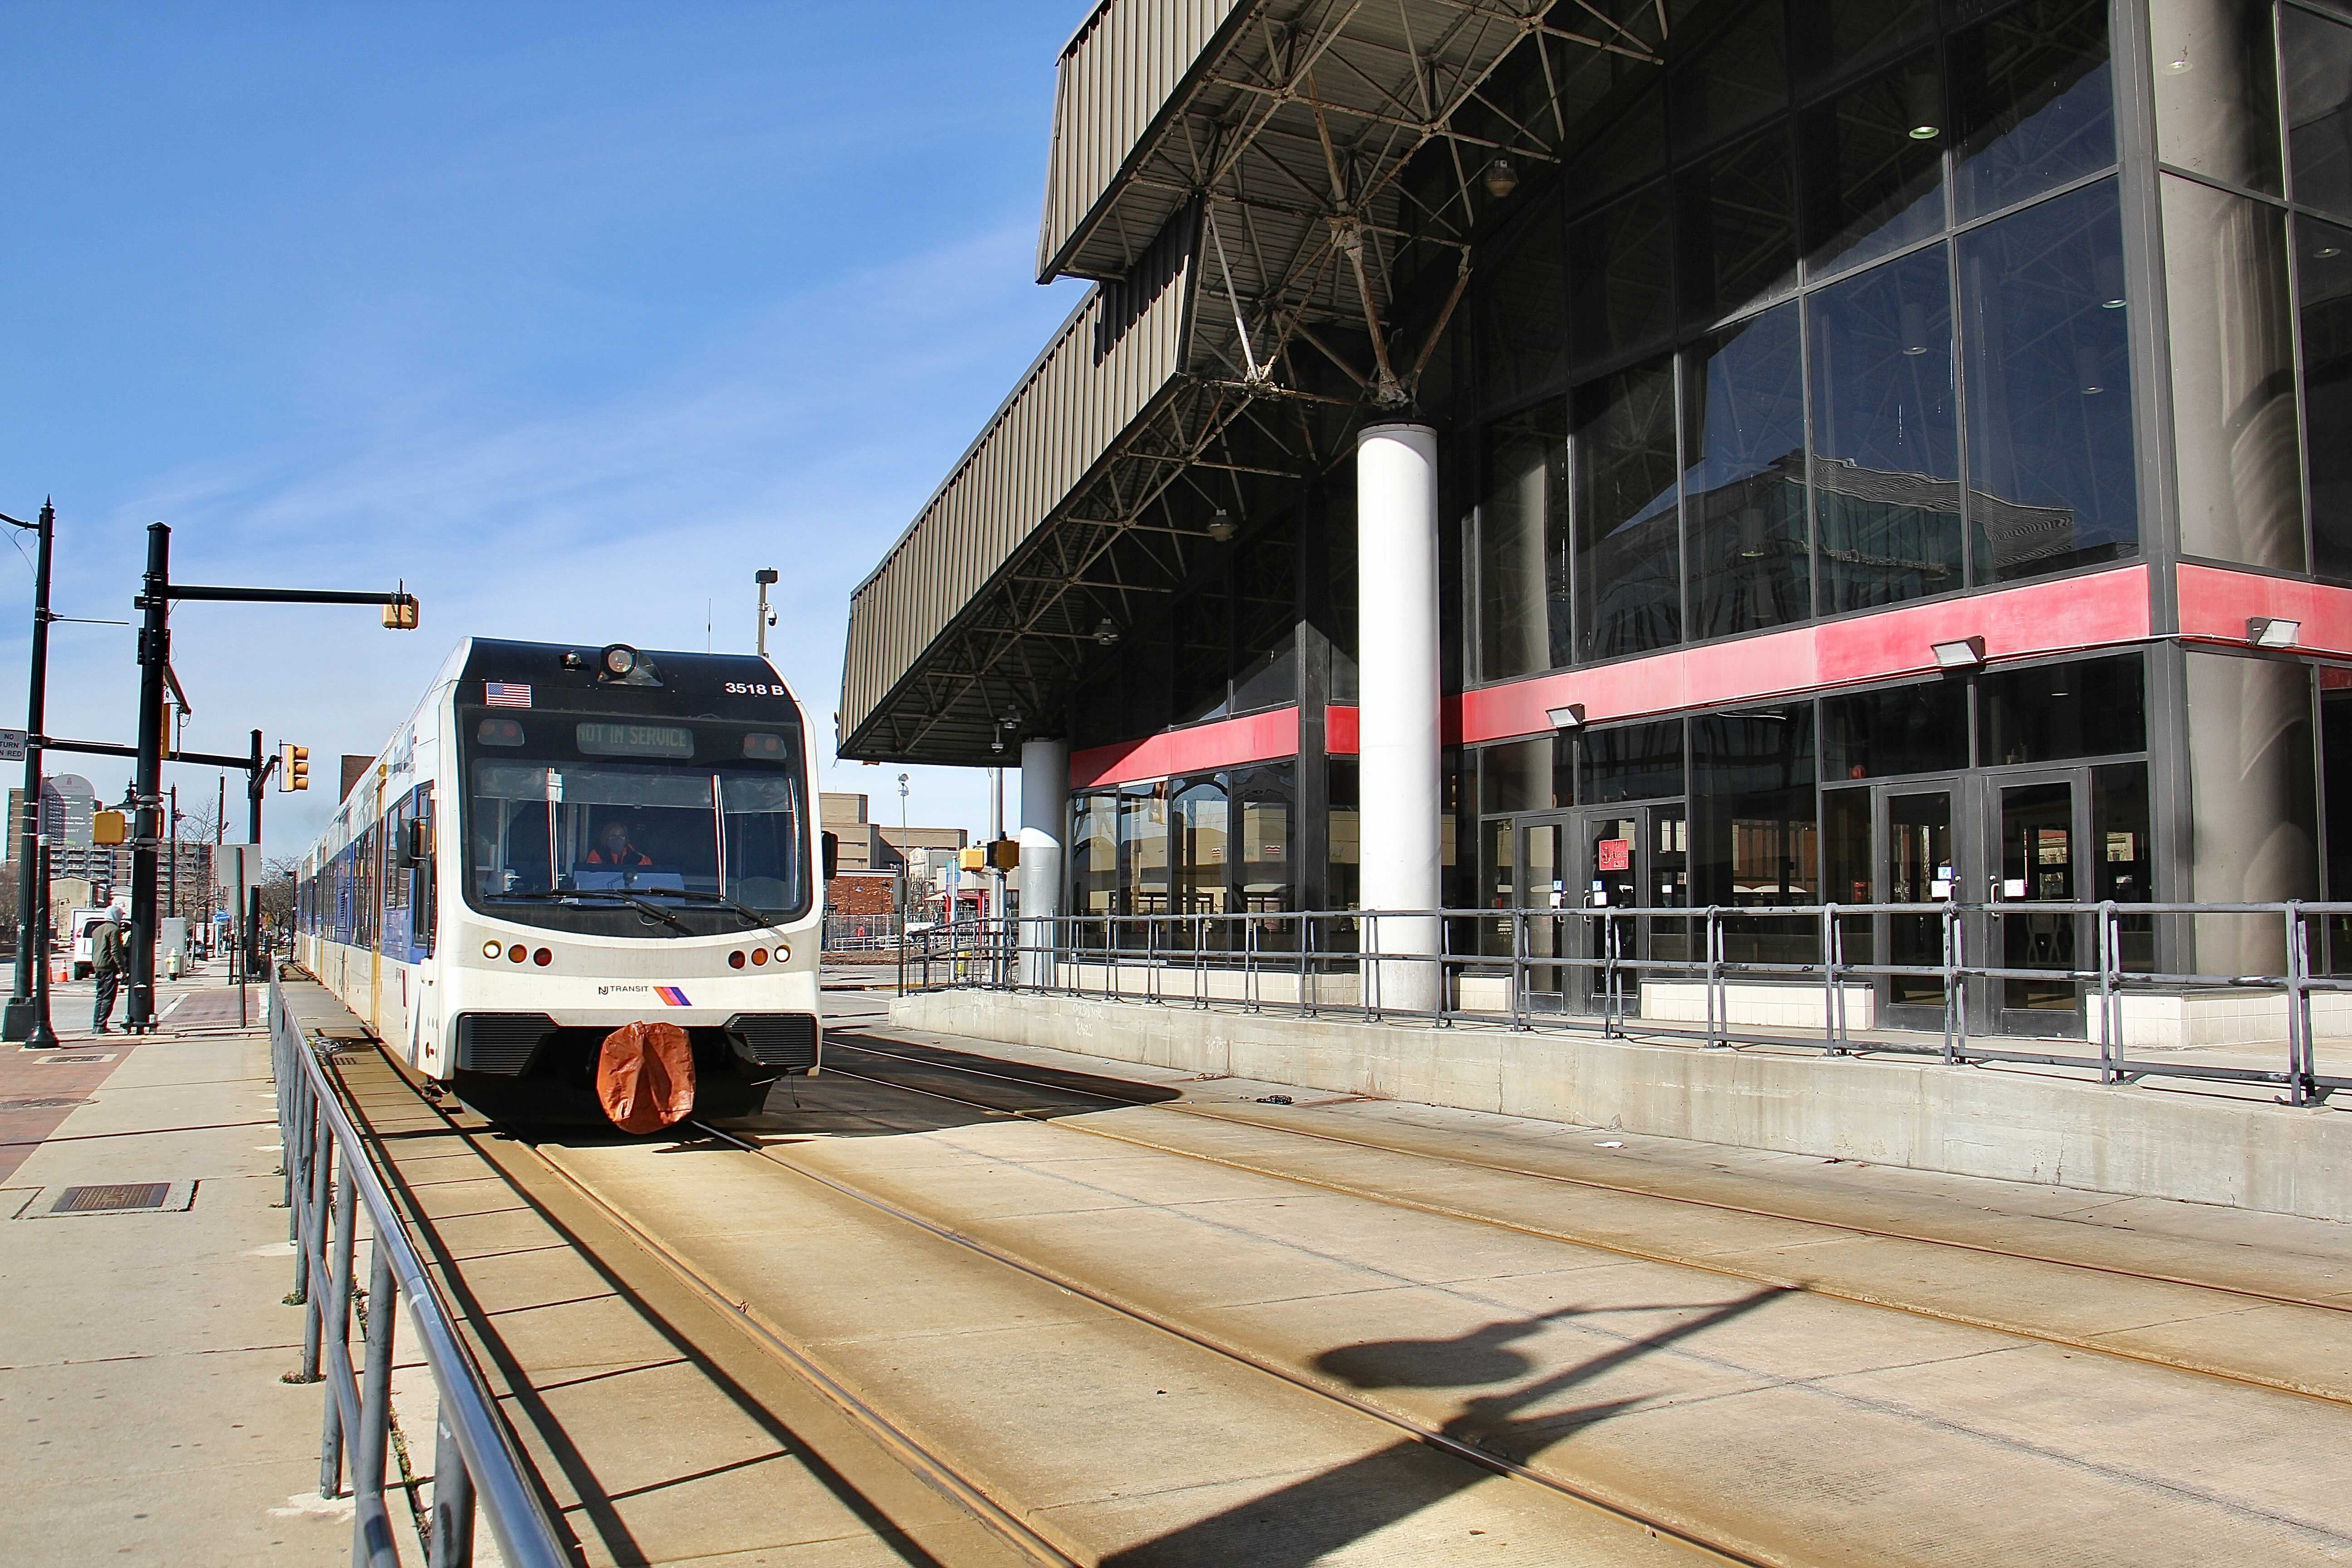
<path fill-rule="evenodd" d="M 2034 907 L 2091 898 L 2084 783 L 2074 771 L 1987 780 L 1999 846 L 1990 877 L 1997 917 L 1987 952 L 2002 969 L 2027 971 L 1987 983 L 1987 1011 L 2002 1034 L 2079 1037 L 2084 1030 L 2082 983 L 2070 971 L 2089 959 L 2091 917 Z"/>

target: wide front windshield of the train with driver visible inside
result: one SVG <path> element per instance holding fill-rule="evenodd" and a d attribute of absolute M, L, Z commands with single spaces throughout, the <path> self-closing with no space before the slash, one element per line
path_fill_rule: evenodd
<path fill-rule="evenodd" d="M 604 936 L 715 936 L 809 910 L 797 729 L 480 715 L 466 900 Z"/>

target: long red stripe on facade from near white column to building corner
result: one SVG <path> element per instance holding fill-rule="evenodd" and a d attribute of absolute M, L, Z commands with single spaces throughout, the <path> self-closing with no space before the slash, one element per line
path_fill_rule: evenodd
<path fill-rule="evenodd" d="M 2185 578 L 2190 569 L 2180 571 Z M 2272 578 L 2263 581 L 2272 583 Z M 2305 583 L 2274 585 L 2307 588 Z M 2326 592 L 2345 595 L 2345 590 Z M 2183 597 L 2187 597 L 2185 581 Z M 2347 646 L 2352 646 L 2352 595 L 2345 599 L 2345 635 Z M 1484 686 L 1458 698 L 1458 729 L 1465 745 L 1477 745 L 1479 741 L 1545 733 L 1552 729 L 1545 712 L 1569 703 L 1583 703 L 1585 724 L 1604 724 L 1682 708 L 1715 708 L 1799 696 L 1823 686 L 1929 675 L 1936 670 L 1931 646 L 1964 637 L 1983 637 L 1985 661 L 1997 663 L 2140 642 L 2147 635 L 2147 567 L 2122 567 L 1962 599 L 1905 604 L 1700 649 L 1672 649 L 1595 670 L 1564 670 L 1505 686 Z M 2237 642 L 2244 639 L 2246 618 L 2239 616 Z M 1449 729 L 1454 726 L 1449 724 Z"/>

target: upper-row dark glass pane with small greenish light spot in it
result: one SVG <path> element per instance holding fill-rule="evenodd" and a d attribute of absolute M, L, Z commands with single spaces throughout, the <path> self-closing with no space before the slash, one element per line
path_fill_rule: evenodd
<path fill-rule="evenodd" d="M 1806 110 L 1804 263 L 1832 273 L 1943 228 L 1943 82 L 1919 54 Z"/>

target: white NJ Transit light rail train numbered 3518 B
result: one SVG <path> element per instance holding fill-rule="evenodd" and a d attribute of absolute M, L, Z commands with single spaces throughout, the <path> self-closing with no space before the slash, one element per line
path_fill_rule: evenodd
<path fill-rule="evenodd" d="M 818 1063 L 814 778 L 764 658 L 468 639 L 303 858 L 296 957 L 494 1114 L 581 1114 L 637 1020 L 746 1114 Z"/>

